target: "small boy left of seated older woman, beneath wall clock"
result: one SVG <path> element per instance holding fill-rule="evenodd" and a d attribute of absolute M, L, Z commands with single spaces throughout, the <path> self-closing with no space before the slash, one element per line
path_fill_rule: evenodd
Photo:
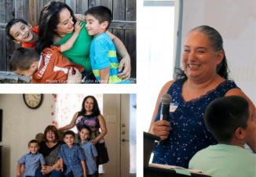
<path fill-rule="evenodd" d="M 40 164 L 43 168 L 46 161 L 44 160 L 42 154 L 38 153 L 39 148 L 39 143 L 35 139 L 32 139 L 28 143 L 28 150 L 30 153 L 25 154 L 18 161 L 16 176 L 35 176 L 35 170 L 40 167 Z M 21 164 L 25 164 L 25 172 L 23 175 L 22 172 L 20 172 Z"/>

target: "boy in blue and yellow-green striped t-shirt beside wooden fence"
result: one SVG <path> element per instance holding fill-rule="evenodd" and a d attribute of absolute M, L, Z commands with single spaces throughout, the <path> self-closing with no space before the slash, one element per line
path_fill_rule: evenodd
<path fill-rule="evenodd" d="M 90 60 L 93 74 L 101 84 L 130 84 L 122 81 L 115 45 L 105 32 L 112 22 L 112 12 L 104 6 L 93 7 L 86 11 L 86 30 L 93 36 L 90 45 Z"/>

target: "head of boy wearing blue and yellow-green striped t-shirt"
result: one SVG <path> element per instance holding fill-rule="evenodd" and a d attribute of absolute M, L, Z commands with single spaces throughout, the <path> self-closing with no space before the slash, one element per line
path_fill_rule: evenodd
<path fill-rule="evenodd" d="M 112 12 L 104 6 L 97 6 L 88 9 L 85 15 L 86 30 L 89 35 L 93 35 L 94 37 L 97 36 L 97 34 L 107 31 L 110 23 L 112 22 Z"/>

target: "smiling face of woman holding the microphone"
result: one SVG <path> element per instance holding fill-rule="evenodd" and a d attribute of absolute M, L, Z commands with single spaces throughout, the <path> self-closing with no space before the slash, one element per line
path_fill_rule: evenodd
<path fill-rule="evenodd" d="M 216 67 L 221 63 L 221 52 L 214 53 L 209 38 L 196 31 L 188 34 L 185 40 L 182 63 L 188 78 L 207 78 L 216 74 Z"/>

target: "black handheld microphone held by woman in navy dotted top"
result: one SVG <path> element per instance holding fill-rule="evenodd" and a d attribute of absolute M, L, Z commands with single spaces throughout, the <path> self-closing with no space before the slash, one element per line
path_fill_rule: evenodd
<path fill-rule="evenodd" d="M 171 103 L 172 97 L 170 94 L 164 94 L 161 96 L 161 102 L 162 102 L 162 107 L 161 107 L 161 115 L 160 115 L 160 120 L 168 120 L 169 117 L 169 110 L 170 110 L 170 103 Z M 159 146 L 163 146 L 164 140 L 160 140 Z"/>

